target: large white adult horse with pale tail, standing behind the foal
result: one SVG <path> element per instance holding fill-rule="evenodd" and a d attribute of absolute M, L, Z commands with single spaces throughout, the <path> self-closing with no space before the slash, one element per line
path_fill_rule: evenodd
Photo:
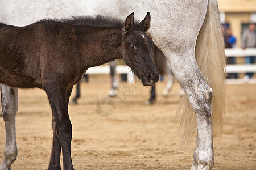
<path fill-rule="evenodd" d="M 183 139 L 197 131 L 191 169 L 211 169 L 214 163 L 213 131 L 216 133 L 222 128 L 225 104 L 226 61 L 217 0 L 2 0 L 0 20 L 6 24 L 26 25 L 47 17 L 113 14 L 119 18 L 131 12 L 143 18 L 147 11 L 152 15 L 148 34 L 167 57 L 176 80 L 187 95 L 183 97 L 179 111 L 183 112 L 180 125 L 184 129 Z M 13 97 L 3 102 L 7 133 L 1 166 L 11 165 L 16 158 L 17 108 L 10 105 L 17 102 L 17 93 L 15 88 L 6 89 L 4 96 Z"/>

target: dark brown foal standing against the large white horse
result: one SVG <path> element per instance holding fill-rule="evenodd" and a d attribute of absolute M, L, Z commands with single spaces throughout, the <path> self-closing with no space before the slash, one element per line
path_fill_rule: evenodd
<path fill-rule="evenodd" d="M 61 148 L 64 169 L 73 169 L 68 103 L 73 85 L 89 67 L 121 58 L 144 86 L 158 81 L 153 42 L 145 33 L 148 28 L 149 12 L 140 23 L 134 22 L 133 13 L 124 24 L 102 16 L 42 20 L 26 27 L 0 23 L 0 82 L 42 88 L 48 95 L 53 113 L 49 169 L 60 168 Z M 10 168 L 10 164 L 1 166 Z"/>

